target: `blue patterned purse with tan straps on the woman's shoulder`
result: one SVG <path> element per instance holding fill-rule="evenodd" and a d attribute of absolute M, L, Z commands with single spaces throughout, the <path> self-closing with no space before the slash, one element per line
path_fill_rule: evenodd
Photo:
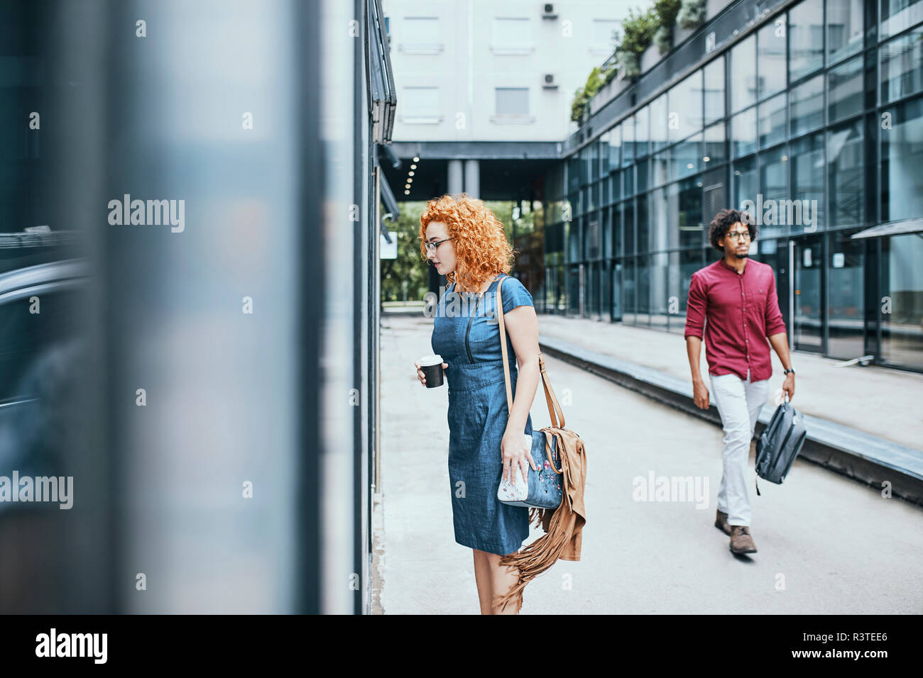
<path fill-rule="evenodd" d="M 509 384 L 509 363 L 507 362 L 507 330 L 503 322 L 503 297 L 500 287 L 501 279 L 497 284 L 497 321 L 500 326 L 500 351 L 503 353 L 503 376 L 507 387 L 507 410 L 513 407 L 512 387 Z M 538 470 L 530 466 L 528 482 L 523 484 L 519 469 L 516 470 L 516 482 L 500 480 L 497 488 L 497 499 L 509 506 L 526 506 L 529 508 L 557 508 L 561 505 L 564 490 L 561 487 L 561 460 L 558 457 L 557 436 L 550 429 L 557 428 L 556 410 L 564 428 L 564 413 L 557 404 L 555 392 L 551 389 L 548 375 L 545 373 L 545 361 L 542 354 L 538 354 L 538 364 L 541 369 L 542 385 L 545 387 L 545 400 L 548 403 L 548 414 L 551 415 L 551 427 L 541 431 L 532 432 L 532 458 Z M 529 435 L 526 435 L 528 441 Z M 510 470 L 512 473 L 512 470 Z"/>

